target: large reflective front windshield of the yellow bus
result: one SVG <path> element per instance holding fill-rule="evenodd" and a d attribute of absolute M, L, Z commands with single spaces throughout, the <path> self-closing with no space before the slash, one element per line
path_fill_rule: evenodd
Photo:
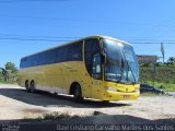
<path fill-rule="evenodd" d="M 138 83 L 139 66 L 130 45 L 103 39 L 106 51 L 105 80 L 120 83 Z"/>

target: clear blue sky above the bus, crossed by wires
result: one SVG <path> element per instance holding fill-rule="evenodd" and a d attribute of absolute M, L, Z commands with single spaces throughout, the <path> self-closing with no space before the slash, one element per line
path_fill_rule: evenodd
<path fill-rule="evenodd" d="M 175 57 L 174 0 L 0 0 L 0 67 L 90 35 L 126 40 L 137 55 Z M 160 59 L 162 60 L 162 59 Z"/>

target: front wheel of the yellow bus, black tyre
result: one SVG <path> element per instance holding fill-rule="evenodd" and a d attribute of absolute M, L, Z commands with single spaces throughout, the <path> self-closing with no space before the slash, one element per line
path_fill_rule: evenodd
<path fill-rule="evenodd" d="M 80 103 L 83 100 L 82 93 L 81 93 L 81 86 L 79 84 L 75 84 L 74 86 L 73 98 L 74 98 L 74 102 L 77 103 Z"/>

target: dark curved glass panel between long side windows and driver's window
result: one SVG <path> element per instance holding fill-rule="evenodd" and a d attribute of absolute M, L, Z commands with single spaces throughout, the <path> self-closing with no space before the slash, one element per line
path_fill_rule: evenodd
<path fill-rule="evenodd" d="M 89 74 L 92 76 L 93 55 L 100 52 L 100 41 L 97 38 L 85 39 L 84 43 L 84 60 Z"/>

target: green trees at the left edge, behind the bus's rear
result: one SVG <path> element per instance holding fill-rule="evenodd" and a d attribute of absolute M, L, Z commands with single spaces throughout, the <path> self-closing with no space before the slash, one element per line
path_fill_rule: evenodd
<path fill-rule="evenodd" d="M 0 83 L 15 83 L 18 79 L 18 68 L 12 62 L 7 62 L 4 68 L 0 68 Z"/>

